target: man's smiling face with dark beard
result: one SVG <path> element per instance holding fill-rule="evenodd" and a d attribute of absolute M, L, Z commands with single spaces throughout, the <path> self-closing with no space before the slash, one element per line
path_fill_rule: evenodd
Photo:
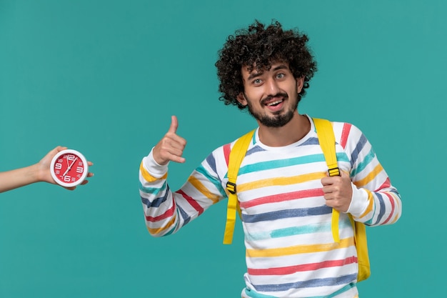
<path fill-rule="evenodd" d="M 242 67 L 243 94 L 238 101 L 248 106 L 250 114 L 259 124 L 268 127 L 284 126 L 293 118 L 298 107 L 298 93 L 303 77 L 295 79 L 288 64 L 274 63 L 270 70 L 248 72 Z"/>

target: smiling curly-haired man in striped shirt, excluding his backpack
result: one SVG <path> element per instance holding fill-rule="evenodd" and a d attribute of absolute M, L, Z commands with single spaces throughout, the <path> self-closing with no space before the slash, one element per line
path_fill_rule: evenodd
<path fill-rule="evenodd" d="M 216 62 L 225 104 L 257 120 L 238 174 L 245 233 L 246 287 L 241 297 L 358 297 L 358 264 L 348 218 L 368 226 L 392 224 L 401 199 L 371 144 L 356 126 L 333 122 L 341 176 L 328 177 L 311 117 L 298 114 L 316 62 L 297 30 L 258 21 L 229 36 Z M 185 139 L 175 116 L 141 162 L 140 194 L 154 236 L 177 232 L 227 197 L 231 144 L 212 152 L 181 189 L 166 182 L 168 164 L 184 162 Z M 340 242 L 331 233 L 340 212 Z"/>

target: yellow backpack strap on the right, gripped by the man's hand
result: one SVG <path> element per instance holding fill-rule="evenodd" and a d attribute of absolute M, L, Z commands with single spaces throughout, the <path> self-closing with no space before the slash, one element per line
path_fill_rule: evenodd
<path fill-rule="evenodd" d="M 329 176 L 340 176 L 335 149 L 335 136 L 333 135 L 331 122 L 326 119 L 313 118 L 313 124 L 315 124 L 318 141 L 320 142 L 324 159 L 326 159 L 326 164 L 328 165 Z M 340 242 L 340 236 L 338 234 L 339 218 L 340 212 L 336 209 L 332 209 L 332 237 L 335 242 Z"/>

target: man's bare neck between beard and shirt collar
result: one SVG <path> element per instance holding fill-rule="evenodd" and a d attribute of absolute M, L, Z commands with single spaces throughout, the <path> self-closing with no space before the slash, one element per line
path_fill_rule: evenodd
<path fill-rule="evenodd" d="M 259 140 L 271 147 L 287 146 L 303 139 L 311 130 L 307 116 L 295 111 L 291 121 L 281 127 L 268 127 L 259 124 Z"/>

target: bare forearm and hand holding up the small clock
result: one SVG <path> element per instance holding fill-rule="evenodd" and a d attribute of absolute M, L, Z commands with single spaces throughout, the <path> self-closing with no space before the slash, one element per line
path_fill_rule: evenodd
<path fill-rule="evenodd" d="M 51 184 L 56 184 L 53 177 L 50 174 L 50 164 L 51 159 L 62 150 L 67 149 L 63 146 L 57 146 L 46 156 L 40 160 L 37 164 L 32 164 L 28 167 L 23 167 L 20 169 L 13 169 L 7 172 L 0 172 L 0 192 L 6 192 L 11 189 L 16 189 L 19 187 L 24 187 L 29 184 L 36 182 L 48 182 Z M 93 165 L 89 162 L 89 166 Z M 87 177 L 92 177 L 93 173 L 87 174 Z M 88 180 L 84 180 L 81 184 L 86 184 Z M 69 190 L 74 190 L 76 187 L 65 187 Z"/>

